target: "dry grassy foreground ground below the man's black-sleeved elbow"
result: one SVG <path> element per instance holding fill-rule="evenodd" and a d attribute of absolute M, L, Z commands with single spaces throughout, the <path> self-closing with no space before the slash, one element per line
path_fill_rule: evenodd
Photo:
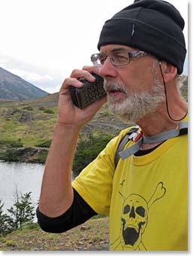
<path fill-rule="evenodd" d="M 1 251 L 101 251 L 108 250 L 106 218 L 90 219 L 65 233 L 46 233 L 38 224 L 28 224 L 0 238 Z"/>

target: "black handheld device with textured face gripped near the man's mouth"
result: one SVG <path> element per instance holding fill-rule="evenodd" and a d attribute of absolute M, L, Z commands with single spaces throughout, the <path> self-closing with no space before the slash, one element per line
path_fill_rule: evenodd
<path fill-rule="evenodd" d="M 84 84 L 83 87 L 77 88 L 70 86 L 72 101 L 78 108 L 86 108 L 97 99 L 101 99 L 107 95 L 103 87 L 104 79 L 95 73 L 92 73 L 92 75 L 96 78 L 95 82 L 89 82 L 83 79 L 81 80 Z"/>

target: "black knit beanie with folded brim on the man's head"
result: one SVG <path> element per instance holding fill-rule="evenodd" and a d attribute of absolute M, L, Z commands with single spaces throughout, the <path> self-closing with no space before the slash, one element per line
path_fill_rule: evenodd
<path fill-rule="evenodd" d="M 107 44 L 122 44 L 151 53 L 176 66 L 185 61 L 184 20 L 179 11 L 161 0 L 135 0 L 104 23 L 98 50 Z"/>

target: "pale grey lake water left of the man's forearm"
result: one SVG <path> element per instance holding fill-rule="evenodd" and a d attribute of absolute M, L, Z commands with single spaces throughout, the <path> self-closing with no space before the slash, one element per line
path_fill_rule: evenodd
<path fill-rule="evenodd" d="M 43 172 L 42 164 L 0 162 L 0 200 L 5 203 L 3 209 L 13 206 L 16 190 L 19 194 L 31 191 L 32 203 L 36 208 Z"/>

